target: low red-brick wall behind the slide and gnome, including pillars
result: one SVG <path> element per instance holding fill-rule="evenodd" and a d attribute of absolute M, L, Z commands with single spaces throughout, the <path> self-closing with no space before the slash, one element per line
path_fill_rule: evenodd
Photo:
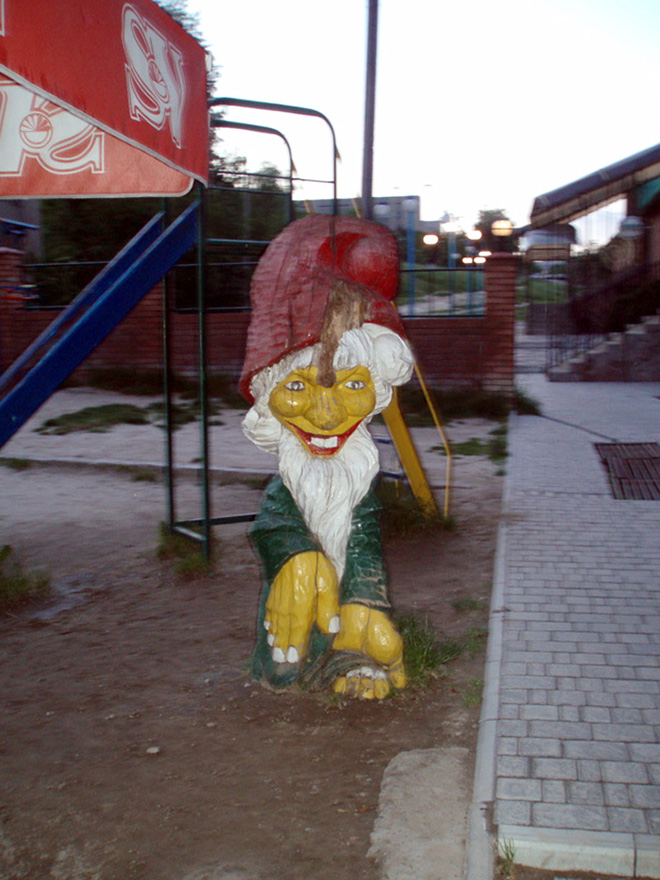
<path fill-rule="evenodd" d="M 20 278 L 20 259 L 0 252 L 3 279 Z M 20 254 L 19 254 L 20 257 Z M 408 318 L 413 349 L 430 385 L 480 388 L 512 394 L 514 387 L 514 307 L 517 259 L 494 254 L 485 267 L 486 313 L 475 318 Z M 4 370 L 52 320 L 53 312 L 26 308 L 0 293 L 0 367 Z M 238 375 L 245 351 L 247 312 L 213 312 L 207 320 L 208 365 L 212 372 Z M 194 374 L 198 363 L 195 313 L 171 318 L 172 367 Z M 163 358 L 162 290 L 149 293 L 78 369 L 129 367 L 160 369 Z"/>

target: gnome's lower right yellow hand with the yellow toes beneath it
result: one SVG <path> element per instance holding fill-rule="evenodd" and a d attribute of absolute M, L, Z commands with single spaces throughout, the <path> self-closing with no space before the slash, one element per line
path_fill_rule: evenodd
<path fill-rule="evenodd" d="M 371 665 L 359 666 L 340 676 L 334 684 L 337 693 L 380 700 L 392 687 L 406 686 L 403 640 L 382 611 L 366 605 L 342 606 L 340 631 L 332 647 L 337 651 L 358 651 L 372 661 Z"/>

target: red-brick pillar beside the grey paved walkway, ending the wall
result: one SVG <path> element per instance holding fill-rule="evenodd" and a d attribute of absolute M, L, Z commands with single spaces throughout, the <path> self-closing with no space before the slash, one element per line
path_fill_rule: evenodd
<path fill-rule="evenodd" d="M 488 325 L 487 364 L 484 371 L 491 391 L 512 398 L 514 383 L 514 342 L 516 278 L 518 257 L 495 253 L 485 269 L 486 321 Z"/>

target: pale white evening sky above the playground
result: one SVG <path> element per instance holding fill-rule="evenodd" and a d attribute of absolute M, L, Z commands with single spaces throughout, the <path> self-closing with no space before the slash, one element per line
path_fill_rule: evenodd
<path fill-rule="evenodd" d="M 188 0 L 220 68 L 218 96 L 310 107 L 361 192 L 367 0 Z M 659 0 L 380 0 L 373 195 L 418 195 L 424 220 L 467 230 L 481 209 L 524 225 L 535 196 L 660 143 Z M 332 174 L 321 120 L 228 108 L 277 128 L 301 177 Z M 227 130 L 223 152 L 288 169 L 272 136 Z M 296 198 L 328 198 L 327 184 Z"/>

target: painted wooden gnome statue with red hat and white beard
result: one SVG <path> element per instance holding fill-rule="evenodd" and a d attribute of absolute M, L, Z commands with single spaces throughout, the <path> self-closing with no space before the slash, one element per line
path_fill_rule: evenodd
<path fill-rule="evenodd" d="M 313 215 L 269 245 L 252 287 L 247 437 L 278 456 L 251 529 L 263 570 L 252 675 L 382 699 L 406 684 L 390 619 L 369 421 L 413 361 L 383 226 Z"/>

